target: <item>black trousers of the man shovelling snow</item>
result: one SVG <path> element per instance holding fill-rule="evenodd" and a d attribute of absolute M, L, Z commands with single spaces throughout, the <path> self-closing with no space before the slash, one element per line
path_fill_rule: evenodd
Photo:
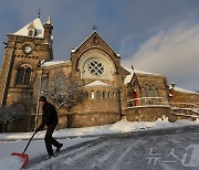
<path fill-rule="evenodd" d="M 56 127 L 56 125 L 48 126 L 48 130 L 46 130 L 45 138 L 44 138 L 45 147 L 46 147 L 46 151 L 48 151 L 49 156 L 53 156 L 52 145 L 56 148 L 61 146 L 61 144 L 52 137 L 52 134 L 53 134 L 55 127 Z"/>

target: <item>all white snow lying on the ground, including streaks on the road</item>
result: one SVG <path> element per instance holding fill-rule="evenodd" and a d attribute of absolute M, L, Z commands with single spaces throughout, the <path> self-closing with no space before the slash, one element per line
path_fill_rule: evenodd
<path fill-rule="evenodd" d="M 59 141 L 64 144 L 64 147 L 62 150 L 65 150 L 72 146 L 76 146 L 78 144 L 83 144 L 86 141 L 95 141 L 97 140 L 101 136 L 105 136 L 108 134 L 125 134 L 125 132 L 129 132 L 129 131 L 147 131 L 147 130 L 151 130 L 151 129 L 168 129 L 168 128 L 172 128 L 172 127 L 184 127 L 184 126 L 189 126 L 189 125 L 199 125 L 199 121 L 190 121 L 190 120 L 178 120 L 176 123 L 168 123 L 167 119 L 158 119 L 155 123 L 129 123 L 127 120 L 121 120 L 116 124 L 112 124 L 112 125 L 106 125 L 106 126 L 97 126 L 97 127 L 87 127 L 87 128 L 73 128 L 73 129 L 62 129 L 62 130 L 56 130 L 54 131 L 53 136 L 56 137 L 59 139 Z M 18 170 L 19 167 L 21 166 L 21 160 L 17 160 L 14 158 L 14 156 L 10 156 L 11 152 L 22 152 L 28 139 L 30 139 L 30 137 L 32 136 L 33 132 L 14 132 L 14 134 L 0 134 L 0 170 Z M 45 131 L 40 131 L 35 135 L 34 139 L 32 140 L 32 142 L 30 144 L 30 147 L 27 150 L 27 153 L 30 157 L 30 161 L 32 159 L 35 159 L 38 157 L 41 156 L 45 156 L 46 151 L 45 151 L 45 146 L 44 146 L 44 141 L 43 141 L 43 137 L 44 137 Z M 112 138 L 112 137 L 109 137 Z M 42 139 L 42 140 L 41 140 Z M 139 138 L 137 138 L 135 141 L 133 141 L 134 145 L 128 146 L 129 142 L 127 142 L 126 140 L 124 140 L 124 142 L 126 142 L 126 147 L 124 145 L 118 145 L 118 144 L 123 144 L 123 141 L 116 140 L 114 139 L 114 142 L 111 141 L 111 139 L 108 139 L 106 142 L 102 142 L 98 146 L 95 147 L 88 147 L 86 149 L 86 151 L 84 152 L 78 152 L 78 156 L 69 156 L 69 152 L 64 153 L 61 156 L 63 158 L 59 158 L 59 161 L 66 161 L 67 166 L 73 164 L 75 159 L 78 159 L 82 155 L 82 158 L 84 157 L 84 155 L 88 155 L 90 152 L 92 153 L 94 150 L 97 149 L 102 149 L 106 150 L 106 147 L 109 146 L 108 148 L 109 151 L 108 153 L 105 153 L 104 156 L 102 156 L 101 158 L 97 158 L 97 163 L 103 163 L 104 161 L 106 161 L 108 158 L 112 158 L 113 152 L 114 152 L 114 145 L 116 145 L 116 147 L 121 148 L 118 150 L 124 150 L 119 151 L 119 155 L 122 155 L 119 157 L 119 159 L 117 159 L 117 161 L 119 162 L 118 164 L 123 164 L 124 167 L 128 168 L 128 164 L 125 166 L 125 161 L 123 158 L 125 158 L 125 155 L 129 153 L 129 151 L 134 148 L 134 146 L 136 146 L 136 144 L 142 144 L 142 142 L 147 142 L 147 140 L 142 140 Z M 174 139 L 176 140 L 176 139 Z M 132 141 L 132 139 L 130 139 Z M 163 141 L 164 142 L 164 141 Z M 114 145 L 112 145 L 114 144 Z M 199 141 L 198 141 L 199 144 Z M 143 144 L 146 147 L 146 144 Z M 150 144 L 151 145 L 151 144 Z M 140 146 L 139 146 L 140 147 Z M 82 150 L 84 147 L 82 148 L 77 148 L 80 150 Z M 86 147 L 85 147 L 86 148 Z M 153 147 L 150 146 L 150 149 L 153 149 Z M 168 148 L 169 149 L 169 148 Z M 186 149 L 186 148 L 184 148 Z M 84 149 L 83 149 L 84 150 Z M 98 151 L 97 151 L 98 152 Z M 102 151 L 101 151 L 102 152 Z M 124 155 L 124 156 L 123 156 Z M 139 155 L 139 152 L 137 151 L 137 155 Z M 199 156 L 199 155 L 197 155 Z M 87 158 L 87 157 L 86 157 Z M 86 161 L 86 158 L 83 159 L 82 161 Z M 56 159 L 56 158 L 54 158 Z M 49 161 L 49 160 L 48 160 Z M 48 163 L 48 161 L 45 161 Z M 55 161 L 55 160 L 53 160 Z M 148 160 L 148 163 L 150 160 Z M 39 169 L 43 166 L 45 167 L 45 162 L 43 162 L 42 164 L 40 163 L 40 167 L 34 167 L 33 169 Z M 57 160 L 55 161 L 57 164 Z M 80 162 L 81 163 L 81 162 Z M 129 162 L 128 162 L 129 163 Z M 153 162 L 154 163 L 154 162 Z M 116 169 L 121 169 L 117 166 L 117 162 L 114 167 L 114 164 L 112 164 L 112 169 L 116 170 Z M 74 163 L 75 166 L 75 163 Z M 80 164 L 77 164 L 78 167 Z M 168 164 L 166 164 L 168 168 Z M 76 167 L 76 169 L 78 169 Z M 75 167 L 73 167 L 75 169 Z M 81 169 L 81 168 L 80 168 Z M 96 163 L 91 164 L 90 169 L 96 169 Z M 101 169 L 101 168 L 97 168 Z M 107 167 L 105 169 L 108 169 Z"/>

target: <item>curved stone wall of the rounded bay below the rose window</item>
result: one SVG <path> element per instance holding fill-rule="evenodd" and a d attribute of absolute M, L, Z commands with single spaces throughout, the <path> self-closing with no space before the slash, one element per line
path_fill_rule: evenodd
<path fill-rule="evenodd" d="M 67 127 L 101 126 L 121 119 L 117 88 L 93 86 L 85 87 L 84 92 L 87 93 L 87 98 L 71 109 L 72 114 L 67 115 Z"/>

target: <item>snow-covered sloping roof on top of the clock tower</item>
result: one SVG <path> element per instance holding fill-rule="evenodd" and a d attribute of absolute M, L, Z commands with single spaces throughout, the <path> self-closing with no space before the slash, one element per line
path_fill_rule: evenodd
<path fill-rule="evenodd" d="M 14 35 L 23 35 L 23 36 L 28 36 L 29 35 L 29 26 L 33 24 L 34 28 L 36 29 L 36 34 L 35 38 L 43 38 L 43 25 L 41 23 L 40 18 L 36 18 L 34 21 L 28 23 L 25 26 L 23 26 L 22 29 L 20 29 L 19 31 L 17 31 L 15 33 L 13 33 Z"/>

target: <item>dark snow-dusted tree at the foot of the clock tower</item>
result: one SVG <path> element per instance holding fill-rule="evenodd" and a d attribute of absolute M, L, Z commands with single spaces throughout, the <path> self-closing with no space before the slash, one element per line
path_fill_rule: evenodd
<path fill-rule="evenodd" d="M 18 107 L 0 108 L 0 124 L 4 126 L 4 132 L 8 131 L 10 123 L 22 119 L 24 115 L 24 111 Z"/>

